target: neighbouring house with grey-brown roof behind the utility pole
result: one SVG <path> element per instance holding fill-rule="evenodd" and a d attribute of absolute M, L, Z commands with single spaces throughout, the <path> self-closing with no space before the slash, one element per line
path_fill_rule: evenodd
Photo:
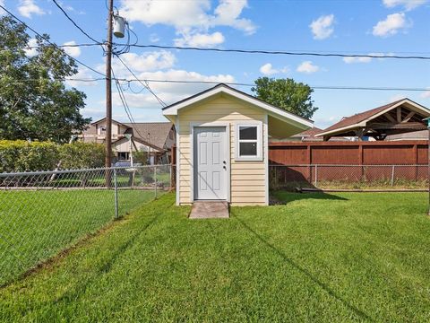
<path fill-rule="evenodd" d="M 106 118 L 90 124 L 78 139 L 103 144 L 106 140 Z M 117 160 L 130 160 L 130 152 L 148 152 L 150 163 L 171 162 L 175 144 L 175 127 L 170 122 L 121 123 L 112 120 L 112 150 Z"/>

